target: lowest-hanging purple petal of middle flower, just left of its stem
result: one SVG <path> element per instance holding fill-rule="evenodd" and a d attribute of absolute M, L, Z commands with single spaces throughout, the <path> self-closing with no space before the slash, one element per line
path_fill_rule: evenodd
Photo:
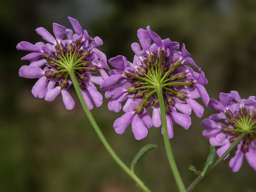
<path fill-rule="evenodd" d="M 132 120 L 132 132 L 136 140 L 143 139 L 148 134 L 147 127 L 137 114 L 134 116 Z"/>

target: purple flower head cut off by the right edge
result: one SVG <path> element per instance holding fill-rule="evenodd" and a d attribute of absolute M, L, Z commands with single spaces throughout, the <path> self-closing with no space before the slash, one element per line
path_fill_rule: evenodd
<path fill-rule="evenodd" d="M 241 99 L 236 91 L 231 91 L 230 94 L 220 93 L 220 102 L 210 99 L 208 104 L 209 107 L 220 111 L 220 113 L 213 114 L 202 122 L 202 125 L 207 128 L 204 130 L 203 136 L 210 139 L 211 145 L 221 146 L 216 151 L 218 156 L 222 156 L 232 143 L 245 133 L 244 138 L 237 145 L 236 155 L 229 161 L 233 172 L 240 169 L 244 156 L 256 171 L 255 98 L 255 96 L 251 96 L 248 99 Z M 218 122 L 219 120 L 224 120 L 227 125 Z"/>

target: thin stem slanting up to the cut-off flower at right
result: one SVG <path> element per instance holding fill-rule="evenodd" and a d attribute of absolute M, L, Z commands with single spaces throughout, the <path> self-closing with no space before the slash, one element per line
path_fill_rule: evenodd
<path fill-rule="evenodd" d="M 204 176 L 209 173 L 216 165 L 218 165 L 238 144 L 239 142 L 244 138 L 244 136 L 247 134 L 247 131 L 244 131 L 239 135 L 239 137 L 232 143 L 232 145 L 228 148 L 228 150 L 219 158 L 217 161 L 215 161 L 209 169 L 203 174 L 199 175 L 187 188 L 187 192 L 190 192 L 193 188 L 195 188 L 196 184 L 204 178 Z"/>

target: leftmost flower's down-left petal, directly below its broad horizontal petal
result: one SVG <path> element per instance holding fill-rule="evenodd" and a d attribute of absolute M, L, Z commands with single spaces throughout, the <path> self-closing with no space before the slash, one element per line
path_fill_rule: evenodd
<path fill-rule="evenodd" d="M 35 97 L 38 98 L 43 98 L 47 92 L 47 83 L 48 83 L 48 78 L 45 76 L 42 76 L 38 79 L 36 84 L 32 88 L 32 94 Z"/>

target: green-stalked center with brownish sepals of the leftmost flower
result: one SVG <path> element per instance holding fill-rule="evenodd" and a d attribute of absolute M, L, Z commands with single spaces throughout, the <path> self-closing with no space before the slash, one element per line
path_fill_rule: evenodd
<path fill-rule="evenodd" d="M 83 41 L 76 40 L 75 43 L 68 43 L 66 47 L 62 43 L 55 45 L 56 54 L 55 58 L 52 58 L 47 52 L 42 54 L 42 58 L 47 60 L 47 64 L 54 68 L 53 70 L 45 71 L 45 76 L 53 77 L 60 81 L 61 88 L 68 86 L 68 79 L 70 80 L 69 70 L 74 70 L 76 79 L 80 89 L 86 87 L 85 82 L 90 76 L 86 74 L 88 71 L 96 71 L 98 68 L 96 65 L 91 65 L 89 57 L 91 53 L 88 49 L 83 50 Z"/>

